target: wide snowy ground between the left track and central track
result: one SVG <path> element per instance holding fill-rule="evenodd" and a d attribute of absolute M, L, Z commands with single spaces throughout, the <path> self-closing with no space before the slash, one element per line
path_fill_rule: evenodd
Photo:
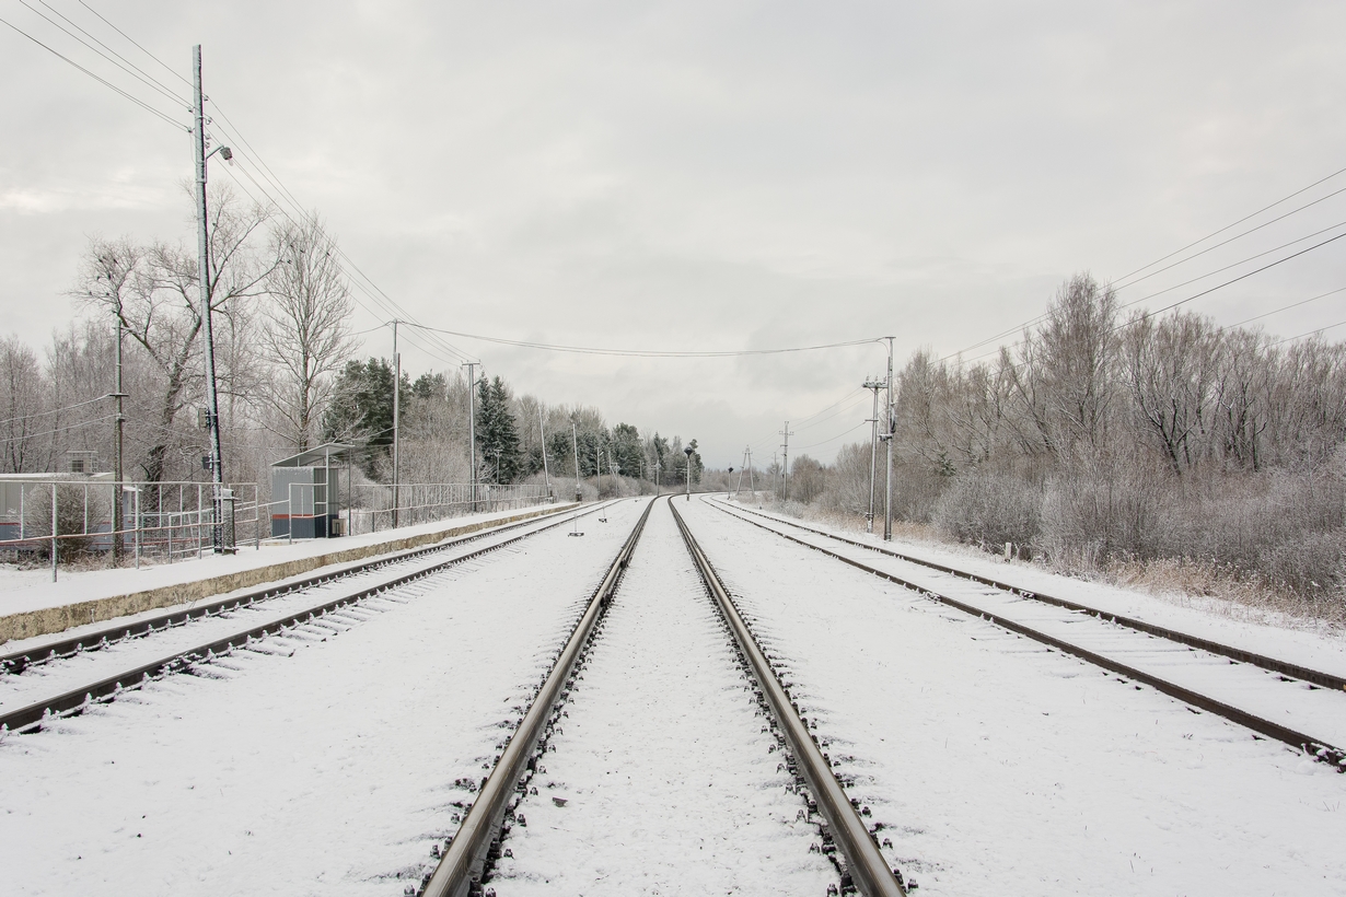
<path fill-rule="evenodd" d="M 0 740 L 4 892 L 400 896 L 641 510 Z"/>

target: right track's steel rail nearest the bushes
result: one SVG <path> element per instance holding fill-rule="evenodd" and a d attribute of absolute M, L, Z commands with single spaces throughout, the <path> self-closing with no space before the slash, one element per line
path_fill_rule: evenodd
<path fill-rule="evenodd" d="M 1221 656 L 1229 658 L 1230 660 L 1238 660 L 1240 663 L 1250 663 L 1254 667 L 1261 667 L 1271 672 L 1279 672 L 1285 676 L 1294 676 L 1295 679 L 1303 679 L 1304 682 L 1312 682 L 1314 685 L 1323 686 L 1324 689 L 1346 690 L 1346 676 L 1339 676 L 1331 672 L 1324 672 L 1322 670 L 1314 670 L 1311 667 L 1303 667 L 1298 663 L 1289 663 L 1288 660 L 1281 660 L 1279 658 L 1269 658 L 1267 655 L 1256 654 L 1253 651 L 1245 651 L 1244 648 L 1236 648 L 1233 646 L 1222 644 L 1219 641 L 1211 641 L 1210 639 L 1203 639 L 1201 636 L 1189 635 L 1180 629 L 1170 629 L 1167 627 L 1155 625 L 1154 623 L 1145 623 L 1144 620 L 1136 620 L 1135 617 L 1127 617 L 1109 611 L 1101 611 L 1100 608 L 1090 607 L 1088 604 L 1078 604 L 1067 598 L 1058 598 L 1044 592 L 1035 592 L 1032 589 L 1026 589 L 1012 582 L 1003 582 L 1000 580 L 993 580 L 979 573 L 969 573 L 966 570 L 960 570 L 957 568 L 946 566 L 944 563 L 937 563 L 934 561 L 926 561 L 925 558 L 913 557 L 910 554 L 902 554 L 900 551 L 894 551 L 892 549 L 880 547 L 878 545 L 870 545 L 868 542 L 861 542 L 859 539 L 852 539 L 844 535 L 837 535 L 835 533 L 828 533 L 825 530 L 818 530 L 812 526 L 805 526 L 802 523 L 795 523 L 794 520 L 785 520 L 770 514 L 763 514 L 760 511 L 754 511 L 751 508 L 731 508 L 724 506 L 721 502 L 712 500 L 715 507 L 719 507 L 725 514 L 751 514 L 754 516 L 760 516 L 774 523 L 782 523 L 785 526 L 793 526 L 805 533 L 813 533 L 814 535 L 821 535 L 837 542 L 844 542 L 847 545 L 853 545 L 860 549 L 867 549 L 870 551 L 876 551 L 879 554 L 886 554 L 888 557 L 898 558 L 899 561 L 906 561 L 907 563 L 917 563 L 923 568 L 930 568 L 931 570 L 938 570 L 940 573 L 948 573 L 962 580 L 970 580 L 979 585 L 988 585 L 993 589 L 1000 589 L 1003 592 L 1011 592 L 1020 598 L 1028 598 L 1031 601 L 1042 601 L 1043 604 L 1051 604 L 1058 608 L 1065 608 L 1066 611 L 1074 611 L 1077 613 L 1088 613 L 1092 617 L 1100 620 L 1106 620 L 1109 623 L 1116 623 L 1124 625 L 1129 629 L 1136 629 L 1137 632 L 1144 632 L 1145 635 L 1152 635 L 1160 639 L 1168 639 L 1170 641 L 1176 641 L 1184 644 L 1190 648 L 1201 648 L 1202 651 L 1209 651 L 1210 654 L 1218 654 Z M 751 520 L 750 520 L 751 522 Z M 759 524 L 760 526 L 760 524 Z M 763 527 L 770 529 L 770 527 Z"/>

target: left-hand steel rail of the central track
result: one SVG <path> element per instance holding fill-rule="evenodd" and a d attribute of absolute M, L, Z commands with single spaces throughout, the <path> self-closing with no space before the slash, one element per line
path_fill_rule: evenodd
<path fill-rule="evenodd" d="M 645 530 L 645 522 L 650 518 L 653 507 L 654 500 L 650 500 L 645 507 L 645 512 L 641 514 L 641 519 L 635 522 L 631 534 L 626 537 L 622 550 L 616 553 L 616 558 L 607 569 L 603 581 L 595 589 L 594 597 L 580 616 L 579 623 L 575 624 L 569 640 L 567 640 L 561 654 L 556 658 L 556 663 L 552 664 L 552 671 L 548 674 L 546 680 L 538 690 L 528 713 L 524 714 L 524 719 L 514 729 L 514 734 L 510 736 L 505 752 L 495 761 L 495 767 L 476 793 L 471 810 L 468 810 L 458 832 L 448 843 L 447 850 L 444 850 L 443 858 L 425 882 L 421 890 L 425 897 L 466 897 L 474 893 L 474 889 L 481 885 L 487 853 L 491 843 L 499 836 L 505 812 L 516 792 L 516 785 L 525 769 L 533 763 L 533 750 L 546 726 L 552 707 L 561 698 L 565 682 L 571 676 L 576 658 L 579 658 L 586 641 L 588 641 L 590 633 L 594 631 L 594 624 L 608 602 L 611 602 L 612 594 L 616 592 L 622 574 L 631 561 L 631 553 L 635 550 L 635 543 Z"/>

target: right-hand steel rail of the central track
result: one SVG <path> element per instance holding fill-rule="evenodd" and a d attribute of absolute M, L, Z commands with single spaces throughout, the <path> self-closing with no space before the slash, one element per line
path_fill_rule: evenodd
<path fill-rule="evenodd" d="M 845 789 L 843 789 L 841 783 L 833 775 L 832 765 L 822 756 L 822 750 L 814 742 L 808 725 L 794 710 L 785 686 L 781 685 L 766 655 L 758 647 L 756 639 L 739 615 L 734 598 L 730 597 L 728 590 L 715 573 L 709 558 L 707 558 L 701 546 L 692 537 L 692 531 L 688 529 L 682 515 L 678 514 L 677 502 L 669 502 L 669 507 L 673 510 L 673 519 L 682 533 L 682 541 L 686 542 L 686 549 L 696 562 L 705 588 L 720 605 L 720 612 L 730 624 L 734 639 L 739 643 L 739 648 L 751 664 L 752 674 L 756 676 L 762 693 L 771 705 L 771 711 L 775 714 L 790 750 L 798 761 L 800 772 L 813 791 L 818 811 L 826 820 L 832 839 L 845 857 L 844 874 L 849 874 L 851 884 L 859 888 L 860 893 L 865 894 L 865 897 L 906 894 L 906 888 L 888 867 L 887 861 L 879 851 L 879 845 L 875 843 L 874 835 L 865 828 L 860 814 L 856 812 L 856 808 L 847 797 Z M 845 884 L 843 881 L 843 893 L 847 890 Z"/>

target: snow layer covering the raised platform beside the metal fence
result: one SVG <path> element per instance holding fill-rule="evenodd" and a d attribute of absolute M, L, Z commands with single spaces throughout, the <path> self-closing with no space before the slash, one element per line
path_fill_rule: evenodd
<path fill-rule="evenodd" d="M 300 539 L 293 543 L 264 542 L 261 547 L 241 545 L 237 554 L 206 554 L 202 558 L 178 561 L 175 563 L 149 563 L 141 561 L 139 570 L 132 566 L 114 570 L 62 568 L 57 582 L 51 581 L 51 568 L 22 569 L 13 563 L 3 563 L 0 565 L 0 616 L 209 580 L 272 563 L 284 563 L 287 561 L 318 557 L 346 549 L 384 545 L 397 539 L 424 535 L 427 533 L 440 533 L 472 523 L 501 520 L 516 514 L 540 511 L 545 507 L 471 514 L 338 539 Z"/>

